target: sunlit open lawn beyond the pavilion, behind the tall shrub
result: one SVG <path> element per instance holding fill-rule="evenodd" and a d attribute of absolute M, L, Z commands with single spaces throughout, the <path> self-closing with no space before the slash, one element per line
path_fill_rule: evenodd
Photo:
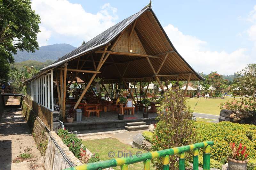
<path fill-rule="evenodd" d="M 205 100 L 204 98 L 200 98 L 194 112 L 197 113 L 206 113 L 206 114 L 212 114 L 212 115 L 220 115 L 220 103 L 224 103 L 226 101 L 233 100 L 234 98 L 227 97 L 225 99 L 210 99 Z M 191 107 L 193 110 L 195 107 L 195 104 L 197 102 L 197 98 L 188 98 L 187 99 L 187 105 Z M 239 98 L 236 98 L 236 100 L 239 100 Z"/>

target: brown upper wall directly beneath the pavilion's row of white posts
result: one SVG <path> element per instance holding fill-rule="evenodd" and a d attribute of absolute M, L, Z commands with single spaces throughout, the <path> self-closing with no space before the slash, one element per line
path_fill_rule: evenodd
<path fill-rule="evenodd" d="M 29 107 L 32 108 L 34 113 L 40 118 L 40 120 L 52 130 L 53 128 L 53 114 L 52 111 L 46 107 L 43 107 L 36 103 L 33 100 L 28 99 L 26 96 L 23 97 L 23 100 L 27 103 Z"/>

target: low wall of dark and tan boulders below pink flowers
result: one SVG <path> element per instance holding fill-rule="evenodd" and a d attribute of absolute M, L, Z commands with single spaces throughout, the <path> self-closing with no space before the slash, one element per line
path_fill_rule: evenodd
<path fill-rule="evenodd" d="M 242 113 L 238 110 L 220 110 L 219 122 L 229 121 L 234 123 L 256 124 L 256 113 Z"/>

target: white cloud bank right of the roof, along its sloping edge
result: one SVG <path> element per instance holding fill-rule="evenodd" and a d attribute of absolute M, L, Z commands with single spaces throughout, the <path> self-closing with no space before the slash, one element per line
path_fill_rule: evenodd
<path fill-rule="evenodd" d="M 206 41 L 185 35 L 171 24 L 165 26 L 164 30 L 180 55 L 195 71 L 210 73 L 216 70 L 220 74 L 233 74 L 249 63 L 250 57 L 245 55 L 245 48 L 239 48 L 232 53 L 204 50 Z"/>

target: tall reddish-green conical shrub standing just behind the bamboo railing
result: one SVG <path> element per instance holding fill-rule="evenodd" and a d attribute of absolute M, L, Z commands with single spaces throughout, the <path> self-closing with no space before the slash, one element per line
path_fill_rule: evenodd
<path fill-rule="evenodd" d="M 166 91 L 158 108 L 156 129 L 152 139 L 152 151 L 159 151 L 196 143 L 192 111 L 186 106 L 182 91 Z M 189 161 L 191 156 L 186 154 Z M 162 169 L 162 159 L 152 160 L 157 169 Z M 170 156 L 170 170 L 178 169 L 176 156 Z"/>

